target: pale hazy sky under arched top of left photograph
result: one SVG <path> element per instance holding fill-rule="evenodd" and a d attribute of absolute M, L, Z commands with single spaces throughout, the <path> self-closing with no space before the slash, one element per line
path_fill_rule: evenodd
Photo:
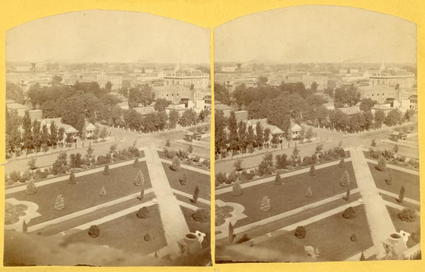
<path fill-rule="evenodd" d="M 210 30 L 147 13 L 71 12 L 10 29 L 6 60 L 210 63 Z"/>

